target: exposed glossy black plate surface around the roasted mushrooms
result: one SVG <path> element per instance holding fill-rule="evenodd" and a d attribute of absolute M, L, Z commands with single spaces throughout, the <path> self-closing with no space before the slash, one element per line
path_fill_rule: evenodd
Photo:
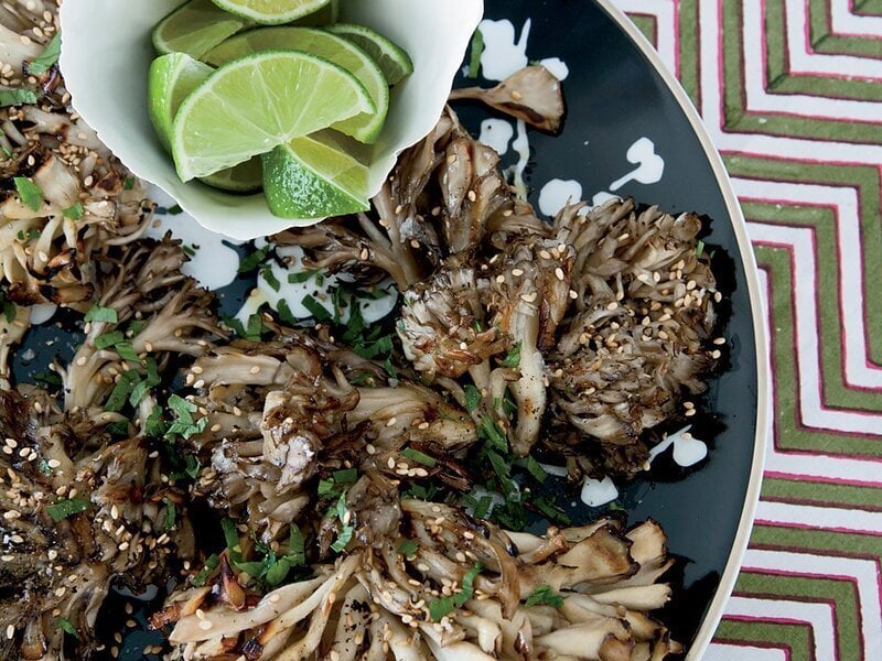
<path fill-rule="evenodd" d="M 745 235 L 735 229 L 743 230 L 743 219 L 727 204 L 727 194 L 730 202 L 733 196 L 728 183 L 714 173 L 716 154 L 708 151 L 712 148 L 707 148 L 707 141 L 702 143 L 702 129 L 693 113 L 684 109 L 649 55 L 620 24 L 621 15 L 584 0 L 486 0 L 485 6 L 487 19 L 510 20 L 518 35 L 530 20 L 527 54 L 531 61 L 559 57 L 569 66 L 563 85 L 568 105 L 563 132 L 551 137 L 529 131 L 533 151 L 526 178 L 530 202 L 537 208 L 539 191 L 552 178 L 580 182 L 589 198 L 609 191 L 611 182 L 634 169 L 626 152 L 645 137 L 665 161 L 664 175 L 654 184 L 632 182 L 616 193 L 671 213 L 695 210 L 706 217 L 707 250 L 716 251 L 714 272 L 729 302 L 722 314 L 728 365 L 699 400 L 701 414 L 689 421 L 695 435 L 710 444 L 710 456 L 692 469 L 678 468 L 668 457 L 660 457 L 646 479 L 622 489 L 616 503 L 633 522 L 659 521 L 671 552 L 681 559 L 674 576 L 681 581 L 681 589 L 664 619 L 677 639 L 692 648 L 689 658 L 697 659 L 712 633 L 702 624 L 706 619 L 713 624 L 720 616 L 722 599 L 716 598 L 717 593 L 731 589 L 743 552 L 735 548 L 736 537 L 742 533 L 738 545 L 743 545 L 743 529 L 750 524 L 749 517 L 742 522 L 742 513 L 752 511 L 756 480 L 751 477 L 760 470 L 754 447 L 757 403 L 764 399 L 764 389 L 757 381 L 757 335 L 749 291 L 749 282 L 754 286 L 756 279 L 752 260 L 741 251 L 742 247 L 749 249 Z M 458 82 L 460 86 L 474 84 L 464 78 Z M 490 117 L 467 104 L 458 105 L 456 110 L 474 132 Z M 238 310 L 249 286 L 239 280 L 222 293 L 225 313 Z M 15 358 L 19 382 L 32 381 L 55 356 L 69 358 L 78 339 L 55 324 L 32 330 Z M 570 501 L 578 520 L 605 511 L 577 502 L 578 494 L 569 495 Z M 117 599 L 111 597 L 105 613 L 119 606 L 114 604 Z M 136 617 L 143 624 L 142 614 Z M 121 659 L 141 659 L 144 644 L 161 642 L 155 633 L 138 629 L 127 636 Z"/>

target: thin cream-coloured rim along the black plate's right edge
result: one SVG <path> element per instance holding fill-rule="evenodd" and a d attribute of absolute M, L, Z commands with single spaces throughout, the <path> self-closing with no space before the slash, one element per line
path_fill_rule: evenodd
<path fill-rule="evenodd" d="M 750 543 L 753 522 L 756 516 L 756 508 L 760 502 L 763 468 L 765 466 L 765 449 L 770 437 L 768 398 L 771 368 L 768 365 L 768 337 L 766 332 L 766 319 L 768 316 L 765 312 L 765 302 L 761 294 L 760 270 L 756 264 L 753 246 L 747 235 L 747 224 L 741 210 L 741 204 L 732 187 L 732 182 L 723 164 L 722 156 L 717 145 L 713 143 L 708 129 L 704 127 L 701 116 L 680 85 L 680 82 L 668 71 L 662 56 L 655 50 L 655 46 L 653 46 L 649 40 L 646 39 L 631 19 L 627 18 L 624 11 L 615 7 L 613 0 L 594 0 L 594 2 L 631 39 L 644 58 L 665 82 L 701 143 L 732 220 L 732 230 L 734 231 L 735 241 L 738 242 L 741 263 L 744 268 L 744 278 L 747 282 L 747 296 L 751 302 L 753 335 L 756 346 L 756 429 L 754 432 L 753 458 L 747 490 L 744 497 L 744 506 L 741 510 L 741 519 L 735 539 L 732 543 L 732 550 L 729 553 L 725 568 L 720 576 L 717 593 L 710 603 L 708 611 L 701 621 L 701 626 L 685 659 L 685 661 L 700 661 L 710 646 L 713 635 L 717 632 L 725 606 L 734 589 L 735 581 L 738 579 L 744 555 L 747 551 L 747 544 Z"/>

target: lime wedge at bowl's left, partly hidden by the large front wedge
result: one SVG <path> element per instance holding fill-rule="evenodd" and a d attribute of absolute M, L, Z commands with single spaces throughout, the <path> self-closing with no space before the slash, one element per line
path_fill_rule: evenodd
<path fill-rule="evenodd" d="M 150 64 L 147 83 L 147 101 L 150 121 L 162 147 L 171 151 L 174 116 L 183 100 L 207 78 L 214 69 L 193 59 L 186 53 L 169 53 Z"/>

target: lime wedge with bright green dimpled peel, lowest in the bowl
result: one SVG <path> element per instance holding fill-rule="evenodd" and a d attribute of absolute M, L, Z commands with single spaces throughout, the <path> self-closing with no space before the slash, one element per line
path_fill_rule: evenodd
<path fill-rule="evenodd" d="M 295 138 L 263 154 L 263 192 L 281 218 L 330 218 L 366 212 L 367 166 L 326 132 Z"/>

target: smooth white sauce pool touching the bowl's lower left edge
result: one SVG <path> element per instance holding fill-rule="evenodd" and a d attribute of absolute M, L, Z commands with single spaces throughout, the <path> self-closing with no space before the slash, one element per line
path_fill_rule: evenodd
<path fill-rule="evenodd" d="M 165 193 L 150 187 L 150 196 L 160 206 L 173 206 L 175 202 Z M 171 230 L 172 237 L 183 241 L 185 248 L 192 249 L 193 254 L 181 271 L 195 279 L 202 286 L 215 291 L 227 286 L 236 279 L 239 271 L 239 256 L 227 246 L 241 246 L 243 241 L 230 239 L 223 235 L 205 229 L 189 214 L 157 215 L 144 236 L 161 239 Z"/>

